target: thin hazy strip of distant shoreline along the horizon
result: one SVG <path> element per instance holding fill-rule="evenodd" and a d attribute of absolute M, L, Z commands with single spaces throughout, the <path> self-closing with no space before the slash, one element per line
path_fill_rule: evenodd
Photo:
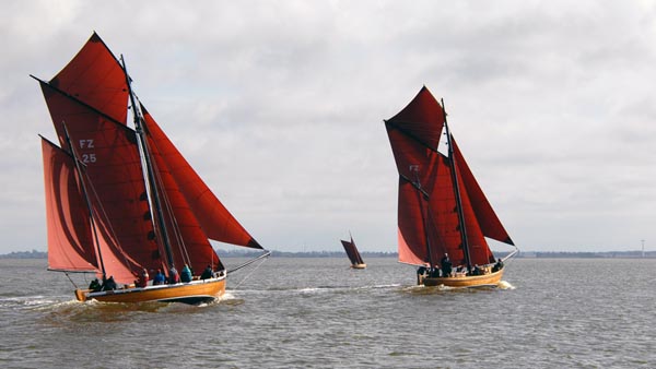
<path fill-rule="evenodd" d="M 216 250 L 220 258 L 256 258 L 261 252 L 250 250 L 223 251 Z M 360 252 L 363 259 L 372 258 L 398 258 L 396 252 L 384 251 L 363 251 Z M 507 252 L 494 252 L 496 257 L 503 258 Z M 343 251 L 271 251 L 272 258 L 345 258 Z M 564 251 L 526 251 L 519 252 L 515 258 L 518 259 L 656 259 L 656 251 L 587 251 L 587 252 L 564 252 Z M 48 253 L 44 251 L 14 251 L 0 254 L 0 259 L 48 259 Z"/>

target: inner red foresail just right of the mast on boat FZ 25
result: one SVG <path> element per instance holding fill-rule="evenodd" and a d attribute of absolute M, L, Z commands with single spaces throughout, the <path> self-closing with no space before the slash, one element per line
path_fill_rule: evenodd
<path fill-rule="evenodd" d="M 165 214 L 174 264 L 181 267 L 187 261 L 194 271 L 202 271 L 208 264 L 222 267 L 219 257 L 208 240 L 208 236 L 194 215 L 185 195 L 160 153 L 159 147 L 149 142 L 157 188 Z"/>

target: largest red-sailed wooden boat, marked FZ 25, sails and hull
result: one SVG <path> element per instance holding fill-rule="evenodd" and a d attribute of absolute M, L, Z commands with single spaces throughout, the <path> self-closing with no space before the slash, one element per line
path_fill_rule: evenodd
<path fill-rule="evenodd" d="M 59 139 L 58 146 L 42 138 L 48 269 L 95 273 L 118 284 L 78 288 L 82 301 L 196 303 L 220 297 L 227 273 L 209 239 L 262 247 L 137 98 L 125 62 L 94 33 L 54 79 L 34 79 Z M 127 123 L 128 102 L 134 128 Z M 185 265 L 208 271 L 174 283 L 172 269 Z M 160 270 L 171 283 L 136 286 L 144 270 L 151 277 Z"/>

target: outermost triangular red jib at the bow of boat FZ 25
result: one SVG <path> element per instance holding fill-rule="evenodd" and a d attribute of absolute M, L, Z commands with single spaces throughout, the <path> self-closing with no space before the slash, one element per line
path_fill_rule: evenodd
<path fill-rule="evenodd" d="M 209 238 L 254 249 L 262 247 L 223 206 L 177 147 L 168 140 L 152 116 L 142 107 L 149 145 L 163 156 L 179 191 Z"/>

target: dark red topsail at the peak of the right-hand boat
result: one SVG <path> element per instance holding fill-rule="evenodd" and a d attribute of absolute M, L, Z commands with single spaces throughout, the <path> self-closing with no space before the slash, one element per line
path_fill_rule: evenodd
<path fill-rule="evenodd" d="M 423 145 L 437 150 L 442 128 L 444 127 L 444 109 L 423 86 L 412 102 L 399 114 L 387 120 L 402 129 L 408 135 L 420 141 Z M 391 144 L 393 148 L 395 144 Z"/>

